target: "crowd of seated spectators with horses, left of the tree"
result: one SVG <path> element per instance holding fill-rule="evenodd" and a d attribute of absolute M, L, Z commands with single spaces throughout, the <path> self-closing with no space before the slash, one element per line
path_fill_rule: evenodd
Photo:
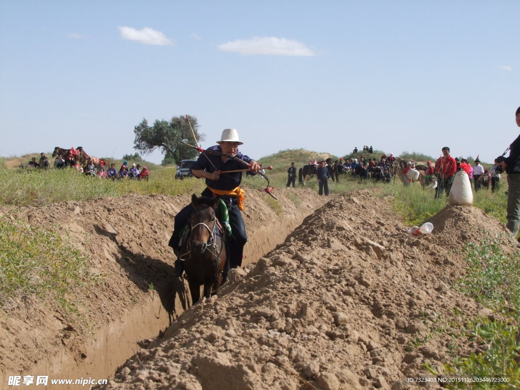
<path fill-rule="evenodd" d="M 36 161 L 36 158 L 33 157 L 31 161 L 27 163 L 25 166 L 28 169 L 44 169 L 47 170 L 50 166 L 49 158 L 45 155 L 45 153 L 40 153 L 40 160 Z M 69 154 L 72 156 L 72 154 Z M 56 169 L 64 169 L 67 167 L 74 168 L 80 173 L 85 174 L 90 177 L 100 177 L 100 178 L 109 178 L 112 180 L 116 179 L 135 179 L 135 180 L 148 180 L 150 177 L 150 172 L 146 166 L 141 168 L 140 164 L 132 164 L 132 167 L 128 169 L 128 162 L 124 161 L 121 165 L 121 168 L 116 169 L 115 164 L 110 164 L 110 167 L 106 169 L 109 165 L 108 161 L 98 160 L 97 162 L 94 159 L 90 159 L 85 165 L 81 165 L 78 161 L 74 160 L 74 158 L 65 160 L 61 154 L 58 154 L 56 159 L 54 160 L 54 167 Z"/>

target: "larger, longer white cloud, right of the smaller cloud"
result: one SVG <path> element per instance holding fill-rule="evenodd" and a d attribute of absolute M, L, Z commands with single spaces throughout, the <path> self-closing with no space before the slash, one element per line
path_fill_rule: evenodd
<path fill-rule="evenodd" d="M 228 53 L 239 53 L 243 56 L 314 56 L 313 50 L 309 49 L 305 44 L 288 40 L 285 38 L 277 38 L 275 36 L 258 37 L 255 36 L 250 40 L 237 40 L 226 42 L 217 46 L 218 50 L 227 51 Z"/>

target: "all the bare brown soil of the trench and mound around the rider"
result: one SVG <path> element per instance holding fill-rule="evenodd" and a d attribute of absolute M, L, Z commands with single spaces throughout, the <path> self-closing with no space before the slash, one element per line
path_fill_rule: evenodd
<path fill-rule="evenodd" d="M 159 336 L 141 333 L 144 340 L 131 345 L 136 354 L 103 388 L 411 389 L 406 378 L 425 373 L 424 362 L 441 365 L 475 352 L 470 342 L 450 350 L 450 336 L 426 335 L 435 319 L 492 316 L 451 285 L 464 274 L 466 242 L 503 233 L 504 250 L 516 250 L 496 219 L 471 206 L 447 206 L 428 219 L 431 235 L 411 237 L 390 200 L 373 191 L 329 198 L 281 189 L 277 196 L 278 213 L 265 193 L 248 192 L 246 266 L 190 309 L 167 247 L 188 196 L 2 209 L 32 225 L 69 230 L 105 277 L 80 296 L 90 325 L 52 302 L 22 301 L 4 313 L 0 376 L 73 378 L 59 374 L 59 362 L 49 363 L 56 356 L 77 378 L 113 376 L 113 365 L 124 362 L 113 351 L 106 363 L 112 372 L 100 371 L 109 353 L 103 348 L 117 340 L 107 341 L 110 327 L 138 328 L 141 317 L 155 316 L 161 329 L 168 312 L 171 326 Z M 139 332 L 119 340 L 133 343 Z"/>

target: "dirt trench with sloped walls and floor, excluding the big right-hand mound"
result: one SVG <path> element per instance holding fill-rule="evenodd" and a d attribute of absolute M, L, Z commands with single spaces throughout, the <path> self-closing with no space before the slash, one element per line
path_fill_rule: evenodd
<path fill-rule="evenodd" d="M 244 265 L 274 249 L 324 203 L 307 189 L 282 189 L 277 196 L 278 214 L 265 194 L 253 190 L 247 194 L 243 215 L 249 242 Z M 22 217 L 34 226 L 69 231 L 71 241 L 92 256 L 91 270 L 105 280 L 81 293 L 79 310 L 90 327 L 50 301 L 22 302 L 4 313 L 0 378 L 110 378 L 143 345 L 141 340 L 149 343 L 158 337 L 191 305 L 187 283 L 179 284 L 173 276 L 173 253 L 167 247 L 173 217 L 189 201 L 188 196 L 133 195 L 2 209 L 1 214 Z M 6 384 L 2 379 L 0 388 Z"/>

